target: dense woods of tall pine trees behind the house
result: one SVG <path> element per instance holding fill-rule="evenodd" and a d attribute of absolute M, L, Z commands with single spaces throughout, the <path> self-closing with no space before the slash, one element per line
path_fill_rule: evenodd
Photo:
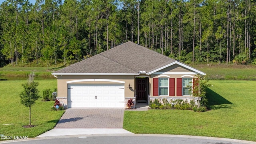
<path fill-rule="evenodd" d="M 256 63 L 253 0 L 5 0 L 0 66 L 71 64 L 128 40 L 185 63 Z"/>

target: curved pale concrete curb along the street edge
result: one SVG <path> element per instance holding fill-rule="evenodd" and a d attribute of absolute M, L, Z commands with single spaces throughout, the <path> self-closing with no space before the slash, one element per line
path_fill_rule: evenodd
<path fill-rule="evenodd" d="M 26 140 L 6 140 L 0 141 L 1 144 L 9 142 L 20 142 L 20 141 L 30 141 L 30 140 L 43 140 L 43 139 L 54 139 L 54 138 L 74 138 L 74 137 L 92 137 L 92 136 L 158 136 L 158 137 L 179 137 L 179 138 L 198 138 L 198 139 L 208 139 L 208 140 L 223 140 L 228 142 L 241 142 L 244 144 L 256 144 L 256 142 L 247 140 L 236 140 L 230 138 L 214 138 L 206 136 L 186 136 L 186 135 L 173 135 L 173 134 L 86 134 L 86 135 L 68 135 L 68 136 L 47 136 L 38 138 L 28 138 Z"/>

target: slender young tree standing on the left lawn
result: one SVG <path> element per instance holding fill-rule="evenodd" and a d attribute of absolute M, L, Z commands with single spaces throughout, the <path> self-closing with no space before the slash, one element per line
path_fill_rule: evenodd
<path fill-rule="evenodd" d="M 31 106 L 40 98 L 38 95 L 38 82 L 34 82 L 34 72 L 29 75 L 28 82 L 22 84 L 24 90 L 20 93 L 20 102 L 26 107 L 29 107 L 29 127 L 31 126 Z"/>

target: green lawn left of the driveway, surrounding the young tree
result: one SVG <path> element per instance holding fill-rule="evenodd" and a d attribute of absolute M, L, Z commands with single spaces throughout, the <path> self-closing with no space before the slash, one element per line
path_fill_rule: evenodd
<path fill-rule="evenodd" d="M 42 90 L 57 88 L 57 80 L 35 80 L 39 82 L 39 94 Z M 53 101 L 43 102 L 42 98 L 31 107 L 31 124 L 33 128 L 23 128 L 29 124 L 29 108 L 20 104 L 19 94 L 23 90 L 22 85 L 26 80 L 0 81 L 0 134 L 6 136 L 36 137 L 54 128 L 64 111 L 52 111 Z M 3 125 L 13 124 L 13 125 Z"/>

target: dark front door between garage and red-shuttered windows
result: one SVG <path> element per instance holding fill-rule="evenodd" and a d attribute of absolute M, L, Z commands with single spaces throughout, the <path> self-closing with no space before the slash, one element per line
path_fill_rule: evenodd
<path fill-rule="evenodd" d="M 137 102 L 147 102 L 148 78 L 137 78 L 136 80 L 136 100 Z"/>

